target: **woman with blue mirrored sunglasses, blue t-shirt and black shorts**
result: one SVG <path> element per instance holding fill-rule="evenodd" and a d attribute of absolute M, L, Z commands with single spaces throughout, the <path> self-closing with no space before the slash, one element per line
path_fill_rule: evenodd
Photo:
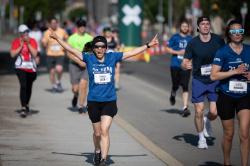
<path fill-rule="evenodd" d="M 211 80 L 220 80 L 216 105 L 223 126 L 224 165 L 230 165 L 235 113 L 239 121 L 241 165 L 247 166 L 249 159 L 250 46 L 242 43 L 243 34 L 239 21 L 229 22 L 225 32 L 227 45 L 217 51 L 210 75 Z"/>

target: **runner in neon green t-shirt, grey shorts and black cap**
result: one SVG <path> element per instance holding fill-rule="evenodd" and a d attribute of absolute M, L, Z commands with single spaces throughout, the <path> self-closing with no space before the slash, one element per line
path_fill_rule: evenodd
<path fill-rule="evenodd" d="M 74 33 L 69 37 L 68 43 L 78 49 L 79 51 L 83 51 L 85 44 L 91 42 L 93 37 L 85 32 L 86 30 L 86 21 L 80 19 L 76 22 L 77 25 L 77 33 Z M 75 58 L 73 54 L 67 52 L 67 56 L 69 60 L 69 74 L 70 74 L 70 82 L 72 84 L 72 91 L 74 93 L 74 97 L 72 100 L 72 106 L 76 107 L 79 93 L 79 105 L 78 112 L 80 114 L 85 114 L 85 110 L 83 107 L 85 98 L 86 98 L 86 89 L 88 82 L 88 71 L 86 68 L 86 63 L 80 61 Z"/>

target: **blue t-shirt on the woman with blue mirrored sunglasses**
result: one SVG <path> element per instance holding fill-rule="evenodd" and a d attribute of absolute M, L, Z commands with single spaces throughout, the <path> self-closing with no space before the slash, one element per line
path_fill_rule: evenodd
<path fill-rule="evenodd" d="M 235 53 L 229 44 L 225 45 L 216 52 L 213 64 L 221 66 L 221 72 L 227 72 L 235 70 L 239 65 L 245 63 L 248 66 L 250 64 L 250 46 L 243 44 L 243 50 L 238 55 Z M 233 75 L 224 80 L 221 80 L 218 88 L 226 95 L 239 98 L 247 95 L 250 92 L 250 84 L 246 83 L 246 77 L 242 74 Z M 229 89 L 229 82 L 231 81 L 231 88 Z M 240 83 L 238 82 L 240 81 Z M 243 83 L 241 83 L 243 81 Z M 234 82 L 234 84 L 232 84 Z M 247 84 L 247 85 L 246 85 Z M 242 92 L 244 85 L 247 87 L 247 92 Z"/>

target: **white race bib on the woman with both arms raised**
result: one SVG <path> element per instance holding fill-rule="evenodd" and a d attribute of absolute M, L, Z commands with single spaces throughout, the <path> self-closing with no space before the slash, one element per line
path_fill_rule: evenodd
<path fill-rule="evenodd" d="M 94 71 L 95 84 L 110 84 L 111 74 L 109 71 Z"/>

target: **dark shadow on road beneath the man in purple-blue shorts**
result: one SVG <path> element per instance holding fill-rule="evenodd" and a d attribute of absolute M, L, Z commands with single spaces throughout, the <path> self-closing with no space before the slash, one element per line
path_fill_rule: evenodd
<path fill-rule="evenodd" d="M 199 141 L 198 135 L 193 135 L 193 134 L 188 134 L 188 133 L 184 133 L 182 135 L 174 136 L 173 139 L 175 139 L 177 141 L 184 140 L 186 143 L 191 144 L 192 146 L 197 146 L 197 142 Z M 215 139 L 216 139 L 215 137 L 207 138 L 206 139 L 207 140 L 207 145 L 208 146 L 213 146 Z"/>

